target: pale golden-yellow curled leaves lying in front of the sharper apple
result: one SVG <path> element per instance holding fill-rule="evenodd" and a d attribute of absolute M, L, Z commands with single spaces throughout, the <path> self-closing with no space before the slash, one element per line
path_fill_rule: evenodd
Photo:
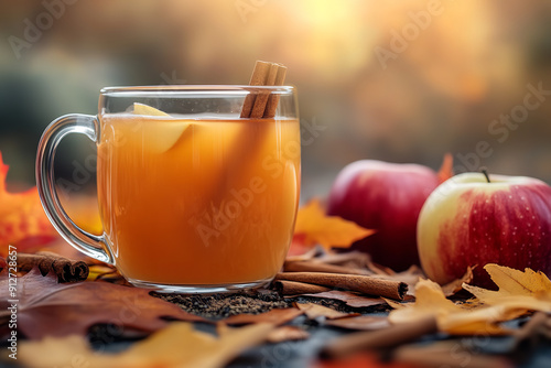
<path fill-rule="evenodd" d="M 439 329 L 454 335 L 504 335 L 511 331 L 499 325 L 529 311 L 551 312 L 551 281 L 541 272 L 525 272 L 497 264 L 486 264 L 499 291 L 463 284 L 475 295 L 469 303 L 454 303 L 446 299 L 442 288 L 421 280 L 415 285 L 415 302 L 407 305 L 387 301 L 396 310 L 391 323 L 413 322 L 435 316 Z"/>

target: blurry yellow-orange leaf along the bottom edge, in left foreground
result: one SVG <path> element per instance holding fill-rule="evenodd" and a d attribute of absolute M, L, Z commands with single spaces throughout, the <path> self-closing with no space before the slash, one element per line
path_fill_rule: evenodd
<path fill-rule="evenodd" d="M 98 354 L 82 336 L 47 337 L 22 343 L 20 359 L 31 368 L 73 367 L 75 357 L 88 368 L 215 368 L 262 343 L 272 329 L 272 325 L 263 323 L 223 328 L 216 338 L 190 323 L 174 322 L 120 354 Z"/>

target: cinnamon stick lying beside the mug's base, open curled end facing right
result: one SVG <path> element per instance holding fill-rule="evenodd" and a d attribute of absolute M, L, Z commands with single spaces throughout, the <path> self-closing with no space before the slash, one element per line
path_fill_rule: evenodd
<path fill-rule="evenodd" d="M 324 272 L 281 272 L 276 280 L 298 281 L 323 286 L 357 291 L 364 294 L 402 300 L 408 284 L 395 280 L 383 280 L 369 275 Z"/>

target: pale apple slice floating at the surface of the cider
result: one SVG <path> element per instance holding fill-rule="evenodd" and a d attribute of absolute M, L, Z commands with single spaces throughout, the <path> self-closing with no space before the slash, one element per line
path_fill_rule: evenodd
<path fill-rule="evenodd" d="M 166 112 L 138 102 L 133 105 L 133 113 L 148 117 L 170 117 Z M 159 119 L 154 122 L 143 123 L 143 136 L 148 139 L 148 147 L 153 153 L 164 153 L 176 144 L 190 126 L 190 121 Z"/>

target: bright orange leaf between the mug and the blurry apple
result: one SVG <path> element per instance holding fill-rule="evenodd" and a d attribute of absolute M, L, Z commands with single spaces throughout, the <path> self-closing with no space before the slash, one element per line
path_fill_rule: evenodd
<path fill-rule="evenodd" d="M 375 230 L 363 228 L 338 216 L 326 216 L 318 199 L 313 199 L 299 209 L 294 237 L 305 247 L 320 243 L 324 248 L 348 248 Z"/>

